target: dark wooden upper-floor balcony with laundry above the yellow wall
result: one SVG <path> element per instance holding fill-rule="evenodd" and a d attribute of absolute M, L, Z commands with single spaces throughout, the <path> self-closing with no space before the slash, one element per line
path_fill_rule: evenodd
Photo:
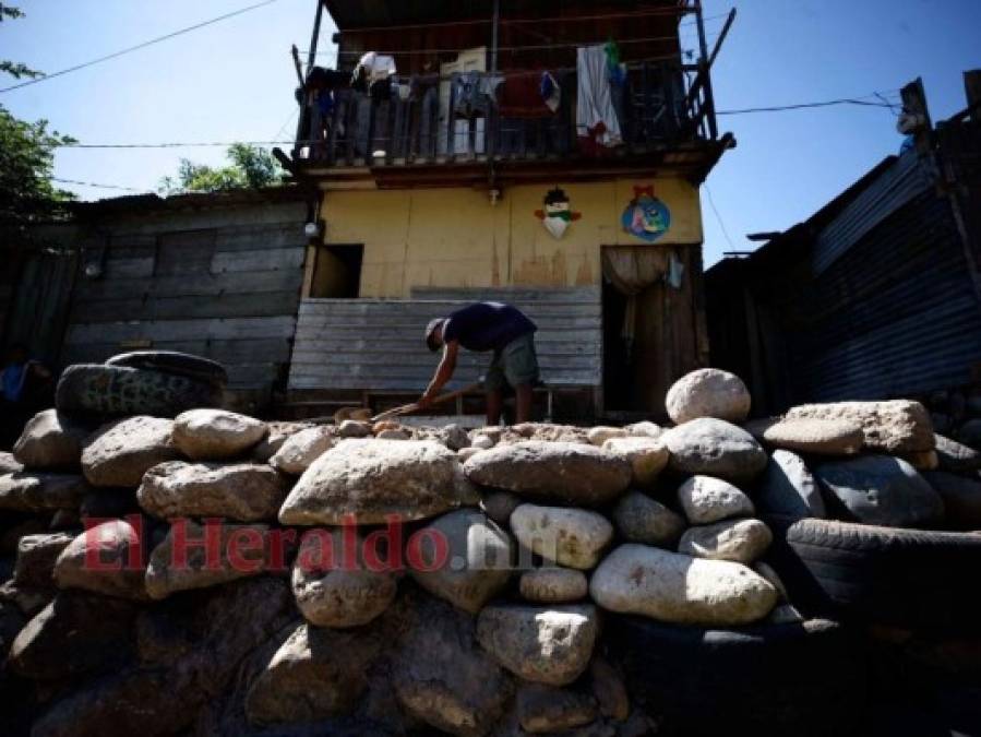
<path fill-rule="evenodd" d="M 541 35 L 538 25 L 528 25 L 533 19 L 526 5 L 515 3 L 513 17 L 493 21 L 495 33 L 483 46 L 479 19 L 366 27 L 380 17 L 373 11 L 355 14 L 358 8 L 362 7 L 334 3 L 331 10 L 342 33 L 336 62 L 340 71 L 330 74 L 342 83 L 333 85 L 330 102 L 323 104 L 319 91 L 299 91 L 292 162 L 295 170 L 308 178 L 342 186 L 368 179 L 375 186 L 399 187 L 459 185 L 468 178 L 475 182 L 558 175 L 588 178 L 656 170 L 701 181 L 731 145 L 731 136 L 718 134 L 698 3 L 667 2 L 647 10 L 631 5 L 588 15 L 600 11 L 577 2 L 558 23 L 540 19 L 550 23 L 553 35 L 546 38 L 548 44 L 529 40 L 530 34 Z M 679 19 L 689 13 L 695 14 L 695 22 L 687 27 L 697 23 L 699 31 L 698 51 L 686 52 L 680 38 Z M 345 27 L 349 24 L 356 27 Z M 623 49 L 622 83 L 610 85 L 621 136 L 615 145 L 590 145 L 576 124 L 576 48 L 614 37 Z M 459 56 L 447 56 L 444 47 Z M 391 54 L 399 72 L 407 73 L 388 78 L 384 91 L 375 94 L 356 92 L 344 75 L 373 48 L 393 49 L 379 54 Z M 685 63 L 696 52 L 697 62 Z M 466 54 L 469 66 L 464 62 Z M 314 55 L 315 49 L 308 60 L 308 80 Z M 483 71 L 488 68 L 501 71 Z M 561 90 L 558 105 L 553 110 L 516 112 L 502 87 L 506 92 L 507 85 L 521 82 L 518 78 L 528 78 L 537 88 L 546 70 Z M 462 100 L 462 79 L 483 91 L 476 105 L 462 105 L 475 102 L 469 96 Z"/>

